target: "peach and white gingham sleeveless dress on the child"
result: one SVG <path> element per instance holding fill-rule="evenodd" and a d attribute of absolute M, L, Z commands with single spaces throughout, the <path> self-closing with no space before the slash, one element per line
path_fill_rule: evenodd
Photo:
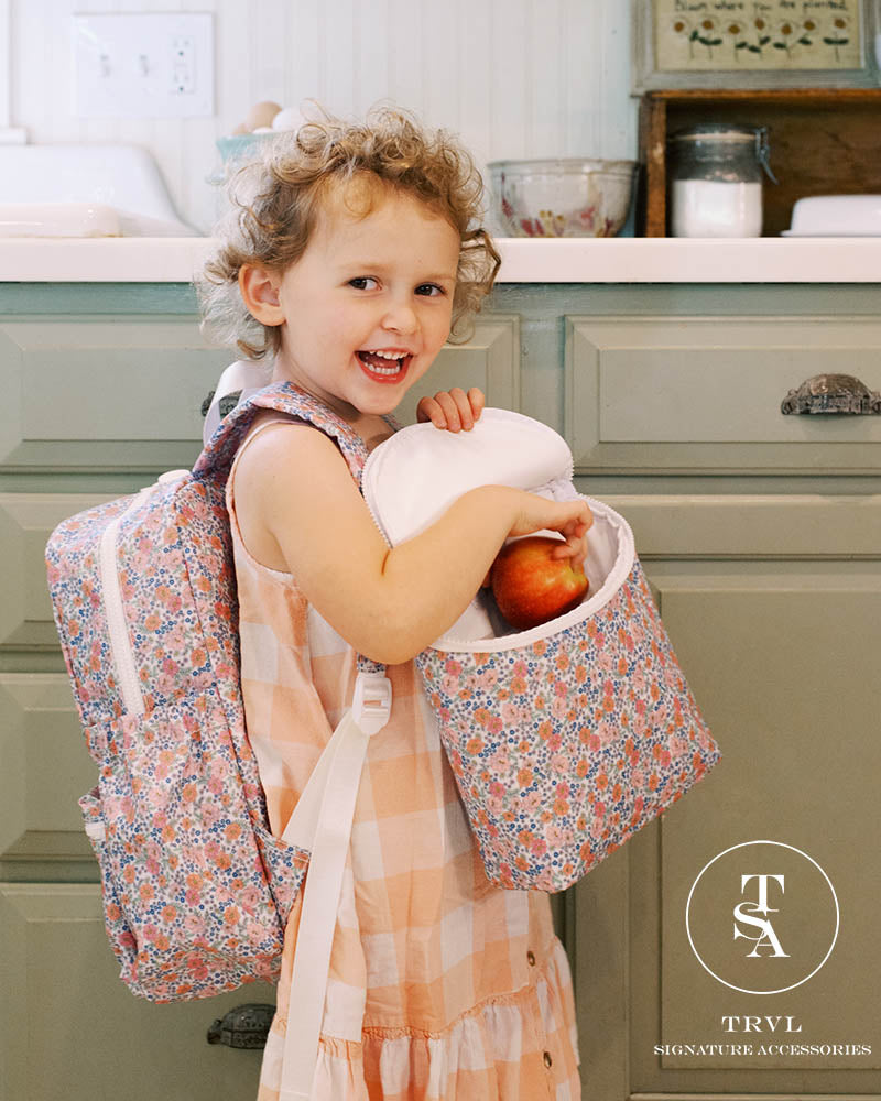
<path fill-rule="evenodd" d="M 357 671 L 351 646 L 294 577 L 257 562 L 242 542 L 238 460 L 270 423 L 239 449 L 227 506 L 244 711 L 280 836 L 351 701 Z M 370 740 L 356 803 L 313 1101 L 574 1101 L 572 978 L 548 897 L 489 883 L 414 664 L 387 675 L 391 720 Z M 286 928 L 258 1101 L 279 1097 L 285 1027 L 296 1020 L 290 982 L 301 901 Z"/>

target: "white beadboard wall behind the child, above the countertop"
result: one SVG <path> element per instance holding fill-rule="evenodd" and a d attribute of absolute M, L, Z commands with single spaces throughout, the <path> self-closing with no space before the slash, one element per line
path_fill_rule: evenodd
<path fill-rule="evenodd" d="M 7 0 L 12 127 L 31 142 L 151 150 L 181 216 L 210 231 L 215 139 L 263 99 L 314 97 L 360 115 L 377 100 L 502 157 L 635 157 L 624 0 Z M 215 110 L 204 119 L 80 119 L 70 24 L 80 11 L 211 11 Z M 0 63 L 2 58 L 0 58 Z"/>

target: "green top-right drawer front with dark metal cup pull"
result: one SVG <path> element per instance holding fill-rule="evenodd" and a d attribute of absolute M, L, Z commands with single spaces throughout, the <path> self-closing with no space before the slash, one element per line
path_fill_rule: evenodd
<path fill-rule="evenodd" d="M 881 320 L 569 316 L 576 470 L 874 472 L 881 416 L 781 412 L 824 373 L 881 390 Z"/>

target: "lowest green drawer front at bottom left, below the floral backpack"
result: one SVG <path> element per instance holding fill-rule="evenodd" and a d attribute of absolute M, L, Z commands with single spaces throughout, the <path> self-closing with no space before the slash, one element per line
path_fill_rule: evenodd
<path fill-rule="evenodd" d="M 119 981 L 100 889 L 0 884 L 3 1101 L 253 1101 L 262 1053 L 208 1045 L 211 1023 L 254 984 L 198 1002 L 154 1005 Z"/>

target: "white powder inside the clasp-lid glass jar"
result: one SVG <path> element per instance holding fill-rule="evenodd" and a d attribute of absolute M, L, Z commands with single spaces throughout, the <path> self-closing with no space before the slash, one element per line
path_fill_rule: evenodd
<path fill-rule="evenodd" d="M 761 237 L 762 185 L 724 179 L 674 179 L 674 237 Z"/>

